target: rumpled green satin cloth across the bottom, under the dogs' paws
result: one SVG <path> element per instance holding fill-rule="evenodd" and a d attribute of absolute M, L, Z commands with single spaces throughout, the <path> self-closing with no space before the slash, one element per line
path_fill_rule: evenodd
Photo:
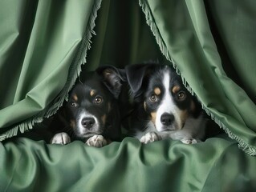
<path fill-rule="evenodd" d="M 125 138 L 103 148 L 83 142 L 49 146 L 18 138 L 0 144 L 0 157 L 0 191 L 256 189 L 255 158 L 227 138 L 195 145 L 171 140 L 144 145 Z"/>

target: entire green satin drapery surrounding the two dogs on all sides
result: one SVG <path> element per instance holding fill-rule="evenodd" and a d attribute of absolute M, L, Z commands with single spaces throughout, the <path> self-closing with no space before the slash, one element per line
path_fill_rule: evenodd
<path fill-rule="evenodd" d="M 0 191 L 255 190 L 255 16 L 254 0 L 0 2 Z M 100 149 L 22 137 L 80 70 L 150 59 L 173 62 L 227 134 Z"/>

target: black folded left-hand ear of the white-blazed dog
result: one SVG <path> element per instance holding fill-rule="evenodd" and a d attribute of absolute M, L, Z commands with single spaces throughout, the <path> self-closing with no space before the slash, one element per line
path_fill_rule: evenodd
<path fill-rule="evenodd" d="M 125 73 L 129 86 L 131 87 L 132 93 L 136 93 L 140 90 L 144 79 L 151 74 L 157 64 L 144 63 L 135 64 L 125 67 Z"/>

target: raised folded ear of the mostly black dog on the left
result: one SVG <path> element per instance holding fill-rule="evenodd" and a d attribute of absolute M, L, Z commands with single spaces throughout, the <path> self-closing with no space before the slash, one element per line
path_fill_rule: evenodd
<path fill-rule="evenodd" d="M 104 85 L 112 92 L 115 98 L 118 98 L 122 89 L 122 81 L 124 82 L 124 70 L 117 69 L 114 66 L 100 66 L 96 70 L 97 74 L 104 79 Z"/>

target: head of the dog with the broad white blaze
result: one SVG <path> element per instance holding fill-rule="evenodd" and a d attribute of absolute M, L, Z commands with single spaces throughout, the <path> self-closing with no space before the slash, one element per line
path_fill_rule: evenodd
<path fill-rule="evenodd" d="M 125 70 L 134 102 L 157 131 L 181 130 L 189 116 L 199 115 L 197 102 L 170 66 L 147 63 Z"/>

